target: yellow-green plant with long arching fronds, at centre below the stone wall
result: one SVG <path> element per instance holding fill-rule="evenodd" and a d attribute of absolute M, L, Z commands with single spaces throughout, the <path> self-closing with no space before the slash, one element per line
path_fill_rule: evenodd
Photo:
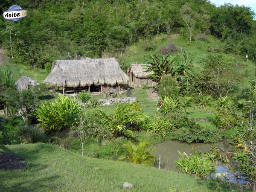
<path fill-rule="evenodd" d="M 112 137 L 124 135 L 130 137 L 136 124 L 145 120 L 146 116 L 142 113 L 140 105 L 136 102 L 117 105 L 116 111 L 108 115 L 102 109 L 98 109 L 97 116 L 101 123 L 111 130 Z"/>

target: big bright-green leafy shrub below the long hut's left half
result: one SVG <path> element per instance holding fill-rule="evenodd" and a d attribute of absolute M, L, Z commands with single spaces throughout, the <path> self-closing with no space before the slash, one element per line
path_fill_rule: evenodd
<path fill-rule="evenodd" d="M 76 99 L 62 96 L 54 102 L 44 102 L 35 111 L 38 122 L 45 130 L 60 131 L 70 128 L 76 123 L 76 118 L 81 110 Z"/>

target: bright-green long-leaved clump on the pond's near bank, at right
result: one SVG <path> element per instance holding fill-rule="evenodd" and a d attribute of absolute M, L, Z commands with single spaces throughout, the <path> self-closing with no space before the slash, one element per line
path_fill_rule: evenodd
<path fill-rule="evenodd" d="M 209 155 L 195 153 L 188 156 L 185 152 L 180 153 L 182 158 L 175 161 L 179 172 L 197 177 L 208 177 L 210 173 L 215 172 L 215 161 L 209 158 Z"/>

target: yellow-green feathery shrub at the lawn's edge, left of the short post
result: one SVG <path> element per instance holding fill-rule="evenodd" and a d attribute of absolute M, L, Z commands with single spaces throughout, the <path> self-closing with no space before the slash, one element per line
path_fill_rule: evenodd
<path fill-rule="evenodd" d="M 153 166 L 155 156 L 151 153 L 153 148 L 149 148 L 149 145 L 150 143 L 145 141 L 140 142 L 138 145 L 128 141 L 128 143 L 123 144 L 126 154 L 120 157 L 120 160 L 128 160 L 131 163 Z"/>

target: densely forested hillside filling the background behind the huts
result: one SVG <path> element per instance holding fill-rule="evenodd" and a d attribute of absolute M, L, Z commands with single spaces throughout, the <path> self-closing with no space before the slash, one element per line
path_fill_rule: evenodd
<path fill-rule="evenodd" d="M 256 54 L 249 7 L 216 7 L 207 0 L 2 0 L 0 13 L 13 4 L 28 9 L 28 17 L 1 17 L 0 43 L 17 64 L 49 68 L 56 58 L 122 54 L 137 41 L 174 33 L 191 44 L 213 35 L 225 53 L 248 54 L 251 60 Z"/>

